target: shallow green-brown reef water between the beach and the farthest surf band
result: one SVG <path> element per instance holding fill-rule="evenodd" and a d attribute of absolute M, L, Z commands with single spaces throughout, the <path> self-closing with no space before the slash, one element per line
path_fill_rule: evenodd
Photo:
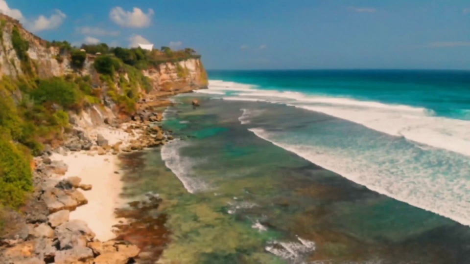
<path fill-rule="evenodd" d="M 194 96 L 201 102 L 196 110 L 189 104 Z M 164 126 L 181 140 L 164 146 L 162 156 L 158 151 L 142 154 L 139 164 L 126 172 L 133 180 L 126 182 L 124 194 L 139 199 L 153 192 L 163 198 L 152 212 L 153 217 L 167 214 L 172 232 L 162 263 L 444 264 L 470 258 L 467 226 L 380 195 L 285 150 L 300 145 L 316 156 L 351 151 L 356 154 L 352 160 L 346 155 L 350 153 L 339 159 L 328 156 L 346 167 L 349 162 L 368 166 L 352 148 L 355 144 L 365 146 L 361 155 L 372 153 L 364 159 L 383 157 L 376 160 L 382 167 L 399 150 L 413 154 L 411 165 L 397 161 L 390 169 L 399 172 L 427 157 L 414 144 L 280 104 L 197 94 L 179 96 L 176 102 L 166 112 Z M 240 118 L 242 110 L 245 118 Z M 263 137 L 285 146 L 250 130 L 262 130 Z M 384 146 L 386 154 L 374 153 Z M 465 161 L 454 155 L 453 164 Z M 443 162 L 433 157 L 430 168 Z M 410 175 L 409 180 L 418 178 Z"/>

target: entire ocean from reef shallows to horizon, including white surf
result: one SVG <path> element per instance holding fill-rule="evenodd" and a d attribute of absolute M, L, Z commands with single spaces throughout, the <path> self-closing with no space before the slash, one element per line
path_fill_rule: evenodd
<path fill-rule="evenodd" d="M 470 72 L 209 78 L 165 111 L 177 140 L 123 157 L 161 263 L 470 263 Z"/>

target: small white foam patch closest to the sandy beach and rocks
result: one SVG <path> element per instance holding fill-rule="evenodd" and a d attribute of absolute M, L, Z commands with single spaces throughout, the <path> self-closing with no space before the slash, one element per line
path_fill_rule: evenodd
<path fill-rule="evenodd" d="M 208 190 L 209 186 L 201 179 L 191 175 L 193 166 L 200 162 L 180 155 L 181 148 L 187 147 L 189 144 L 182 140 L 173 140 L 162 148 L 162 160 L 183 183 L 188 193 L 194 194 L 198 191 Z"/>

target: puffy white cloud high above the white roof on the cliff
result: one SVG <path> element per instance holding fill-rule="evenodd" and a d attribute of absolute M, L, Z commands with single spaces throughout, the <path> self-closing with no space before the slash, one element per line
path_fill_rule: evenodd
<path fill-rule="evenodd" d="M 133 11 L 125 11 L 117 6 L 109 12 L 109 18 L 122 27 L 148 27 L 155 14 L 153 9 L 149 8 L 145 14 L 140 8 L 134 7 Z"/>

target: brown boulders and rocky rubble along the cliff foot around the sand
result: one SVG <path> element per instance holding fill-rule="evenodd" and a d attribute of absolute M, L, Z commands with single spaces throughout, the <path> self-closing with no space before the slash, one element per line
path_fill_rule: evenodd
<path fill-rule="evenodd" d="M 92 230 L 87 216 L 71 219 L 75 210 L 87 206 L 86 194 L 94 186 L 78 176 L 67 176 L 70 166 L 63 160 L 69 157 L 67 160 L 75 164 L 83 161 L 80 158 L 85 155 L 102 156 L 109 163 L 120 153 L 164 145 L 173 137 L 158 125 L 163 117 L 155 108 L 169 104 L 161 96 L 147 97 L 141 101 L 140 110 L 123 122 L 105 119 L 105 125 L 89 130 L 74 126 L 62 146 L 55 149 L 46 146 L 44 153 L 34 158 L 33 194 L 21 212 L 7 211 L 4 226 L 7 233 L 0 236 L 0 263 L 138 263 L 141 249 L 136 245 L 122 236 L 100 241 L 94 232 L 102 230 Z M 93 218 L 99 221 L 99 216 Z M 121 229 L 125 224 L 119 221 Z M 118 235 L 117 231 L 114 233 Z"/>

